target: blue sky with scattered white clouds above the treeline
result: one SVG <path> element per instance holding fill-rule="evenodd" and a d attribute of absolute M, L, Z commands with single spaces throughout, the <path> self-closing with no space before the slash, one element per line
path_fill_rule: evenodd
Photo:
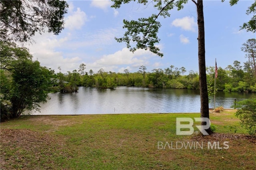
<path fill-rule="evenodd" d="M 55 36 L 49 33 L 36 34 L 36 43 L 27 45 L 34 59 L 41 65 L 61 72 L 78 70 L 81 63 L 86 70 L 95 73 L 103 68 L 105 71 L 123 73 L 138 71 L 140 65 L 146 71 L 167 68 L 170 65 L 185 67 L 188 71 L 198 71 L 198 32 L 196 6 L 192 1 L 183 10 L 170 11 L 169 18 L 159 18 L 162 27 L 158 37 L 158 46 L 164 57 L 160 58 L 150 51 L 140 49 L 134 53 L 126 48 L 125 43 L 118 43 L 126 30 L 122 29 L 124 19 L 136 20 L 151 16 L 157 11 L 152 3 L 147 7 L 137 2 L 124 4 L 120 9 L 110 8 L 109 0 L 67 1 L 68 13 L 65 16 L 65 29 Z M 241 51 L 242 43 L 255 34 L 239 30 L 251 16 L 246 15 L 252 0 L 240 0 L 230 6 L 228 1 L 204 0 L 204 23 L 206 42 L 206 66 L 214 66 L 217 58 L 218 67 L 232 65 L 234 60 L 246 61 Z"/>

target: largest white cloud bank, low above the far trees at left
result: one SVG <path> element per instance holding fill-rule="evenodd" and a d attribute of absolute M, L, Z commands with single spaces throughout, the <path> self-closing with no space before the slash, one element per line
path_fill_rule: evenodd
<path fill-rule="evenodd" d="M 145 50 L 138 50 L 135 53 L 132 53 L 129 49 L 125 48 L 114 54 L 97 55 L 97 52 L 102 51 L 105 45 L 110 45 L 115 41 L 114 36 L 116 35 L 116 31 L 116 29 L 111 28 L 98 30 L 95 33 L 86 33 L 80 35 L 80 37 L 84 38 L 78 42 L 74 41 L 74 39 L 76 39 L 76 37 L 74 37 L 74 35 L 76 35 L 75 32 L 72 34 L 66 33 L 63 38 L 45 32 L 42 33 L 42 35 L 36 34 L 33 37 L 36 43 L 28 44 L 27 47 L 30 49 L 30 53 L 33 55 L 34 59 L 38 59 L 41 65 L 54 69 L 56 72 L 58 72 L 58 67 L 60 66 L 62 68 L 62 73 L 78 69 L 82 62 L 85 62 L 87 65 L 86 67 L 93 71 L 98 71 L 100 68 L 103 68 L 106 71 L 117 71 L 120 65 L 128 65 L 129 63 L 139 63 L 142 65 L 144 59 L 136 56 L 149 56 L 150 52 Z M 70 41 L 72 43 L 70 43 Z M 96 45 L 96 53 L 93 57 L 91 55 L 88 56 L 86 52 L 79 50 L 84 47 L 95 47 Z M 95 61 L 94 57 L 97 57 L 98 59 Z M 131 61 L 129 61 L 130 59 Z"/>

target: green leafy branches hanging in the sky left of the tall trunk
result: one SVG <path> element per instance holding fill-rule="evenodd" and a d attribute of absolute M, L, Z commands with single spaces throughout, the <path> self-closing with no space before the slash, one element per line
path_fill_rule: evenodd
<path fill-rule="evenodd" d="M 112 0 L 114 4 L 112 8 L 120 8 L 122 4 L 128 4 L 131 1 L 135 0 Z M 156 46 L 160 42 L 160 39 L 157 36 L 158 30 L 161 27 L 160 22 L 157 21 L 159 16 L 164 18 L 170 17 L 169 11 L 174 7 L 177 7 L 178 10 L 183 8 L 183 4 L 186 4 L 188 0 L 138 0 L 139 4 L 146 5 L 149 2 L 153 3 L 154 8 L 159 10 L 158 14 L 152 14 L 148 18 L 139 18 L 135 20 L 123 20 L 124 26 L 127 31 L 124 33 L 122 38 L 115 38 L 117 42 L 125 42 L 127 48 L 130 48 L 130 51 L 134 52 L 136 49 L 145 49 L 149 50 L 152 53 L 156 53 L 158 56 L 162 57 L 164 54 L 160 52 L 159 47 Z M 135 47 L 132 47 L 131 43 L 136 42 Z"/>

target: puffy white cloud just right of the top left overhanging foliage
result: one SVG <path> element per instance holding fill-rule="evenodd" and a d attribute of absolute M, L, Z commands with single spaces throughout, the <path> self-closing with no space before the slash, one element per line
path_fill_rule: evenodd
<path fill-rule="evenodd" d="M 65 19 L 65 28 L 70 30 L 81 29 L 87 20 L 86 14 L 80 8 L 77 8 L 76 12 L 72 12 L 72 15 Z"/>

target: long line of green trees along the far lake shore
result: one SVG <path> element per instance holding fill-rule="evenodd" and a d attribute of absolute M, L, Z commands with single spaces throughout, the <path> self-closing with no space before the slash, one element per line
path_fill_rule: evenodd
<path fill-rule="evenodd" d="M 85 66 L 84 66 L 85 67 Z M 214 90 L 214 67 L 207 67 L 208 90 Z M 96 73 L 90 69 L 84 75 L 76 70 L 67 74 L 57 73 L 55 78 L 84 87 L 114 88 L 116 86 L 159 87 L 175 89 L 199 89 L 199 75 L 195 71 L 186 71 L 186 68 L 171 65 L 165 69 L 153 69 L 146 72 L 145 66 L 140 66 L 137 72 L 124 73 L 106 72 L 100 69 Z M 187 74 L 186 74 L 187 73 Z M 247 62 L 244 66 L 239 61 L 234 61 L 226 68 L 218 67 L 216 79 L 218 91 L 256 92 L 256 77 L 252 69 L 248 69 Z M 209 93 L 209 92 L 208 92 Z"/>

